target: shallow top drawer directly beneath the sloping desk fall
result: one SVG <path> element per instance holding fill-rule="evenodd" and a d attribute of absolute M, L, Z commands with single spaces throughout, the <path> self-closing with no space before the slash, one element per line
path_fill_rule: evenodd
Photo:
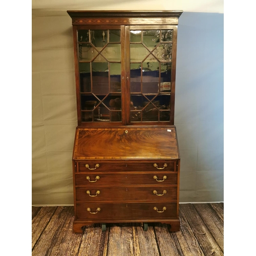
<path fill-rule="evenodd" d="M 80 161 L 76 162 L 77 172 L 89 172 L 90 170 L 96 172 L 112 172 L 112 171 L 157 171 L 157 170 L 168 170 L 174 172 L 176 161 L 122 161 L 122 162 L 100 162 L 100 161 Z"/>

